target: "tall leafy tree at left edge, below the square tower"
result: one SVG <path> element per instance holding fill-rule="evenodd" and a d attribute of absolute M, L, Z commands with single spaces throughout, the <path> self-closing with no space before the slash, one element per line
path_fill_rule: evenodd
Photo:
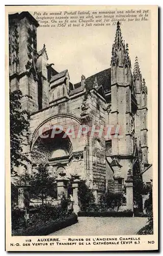
<path fill-rule="evenodd" d="M 25 95 L 26 96 L 26 95 Z M 26 110 L 22 110 L 21 99 L 24 96 L 20 90 L 10 91 L 10 161 L 11 174 L 15 174 L 14 166 L 24 166 L 30 160 L 23 154 L 22 146 L 26 145 L 26 136 L 29 134 L 30 115 Z"/>

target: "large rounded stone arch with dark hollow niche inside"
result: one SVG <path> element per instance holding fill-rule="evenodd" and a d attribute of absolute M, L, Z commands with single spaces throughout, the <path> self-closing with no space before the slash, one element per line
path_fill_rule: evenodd
<path fill-rule="evenodd" d="M 52 126 L 60 125 L 60 134 L 52 135 Z M 74 135 L 68 135 L 68 128 L 73 126 Z M 80 122 L 77 118 L 67 115 L 57 115 L 41 123 L 35 130 L 31 141 L 31 161 L 33 164 L 49 164 L 50 172 L 56 176 L 60 164 L 64 166 L 66 174 L 80 174 L 84 171 L 84 136 L 77 137 Z M 49 135 L 42 138 L 43 135 Z"/>

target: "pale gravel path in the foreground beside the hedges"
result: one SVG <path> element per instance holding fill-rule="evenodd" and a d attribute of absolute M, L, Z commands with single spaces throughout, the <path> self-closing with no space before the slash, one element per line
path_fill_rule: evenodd
<path fill-rule="evenodd" d="M 78 223 L 49 234 L 49 236 L 114 236 L 132 235 L 146 225 L 141 217 L 78 217 Z"/>

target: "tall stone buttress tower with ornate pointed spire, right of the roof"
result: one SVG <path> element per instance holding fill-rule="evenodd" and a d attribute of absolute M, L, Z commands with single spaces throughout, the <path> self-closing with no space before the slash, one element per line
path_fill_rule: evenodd
<path fill-rule="evenodd" d="M 116 37 L 112 48 L 111 97 L 112 124 L 120 125 L 121 135 L 123 136 L 123 138 L 112 140 L 112 155 L 127 159 L 132 155 L 134 147 L 134 118 L 137 111 L 137 101 L 132 83 L 128 44 L 125 45 L 122 39 L 119 22 L 117 23 Z"/>

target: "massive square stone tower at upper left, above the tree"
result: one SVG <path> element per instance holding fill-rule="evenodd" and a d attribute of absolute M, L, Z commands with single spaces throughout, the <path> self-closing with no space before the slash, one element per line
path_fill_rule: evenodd
<path fill-rule="evenodd" d="M 10 90 L 20 89 L 22 108 L 38 110 L 37 20 L 29 12 L 9 15 L 9 76 Z"/>

